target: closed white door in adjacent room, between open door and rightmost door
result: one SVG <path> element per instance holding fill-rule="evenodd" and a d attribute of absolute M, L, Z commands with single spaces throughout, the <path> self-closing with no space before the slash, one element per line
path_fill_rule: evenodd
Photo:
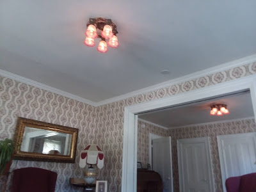
<path fill-rule="evenodd" d="M 213 192 L 209 138 L 177 141 L 180 192 Z"/>

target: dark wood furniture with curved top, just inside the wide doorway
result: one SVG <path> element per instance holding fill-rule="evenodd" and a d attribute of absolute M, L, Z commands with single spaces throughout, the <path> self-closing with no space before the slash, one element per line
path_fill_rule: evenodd
<path fill-rule="evenodd" d="M 138 169 L 137 192 L 163 192 L 163 182 L 159 173 Z"/>

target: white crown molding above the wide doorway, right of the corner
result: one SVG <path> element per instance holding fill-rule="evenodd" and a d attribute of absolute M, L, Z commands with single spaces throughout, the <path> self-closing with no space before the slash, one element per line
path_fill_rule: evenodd
<path fill-rule="evenodd" d="M 134 92 L 129 92 L 124 95 L 120 95 L 117 97 L 112 97 L 110 99 L 102 100 L 100 102 L 97 102 L 96 105 L 102 106 L 102 105 L 116 102 L 119 100 L 124 100 L 129 97 L 135 97 L 137 95 L 145 94 L 148 92 L 153 92 L 153 91 L 159 90 L 161 88 L 166 88 L 167 86 L 172 86 L 173 84 L 183 83 L 184 81 L 190 81 L 190 80 L 193 80 L 193 79 L 196 79 L 199 77 L 209 76 L 210 74 L 214 74 L 216 72 L 221 72 L 224 70 L 228 70 L 230 68 L 239 67 L 242 65 L 253 63 L 255 61 L 256 61 L 256 54 L 253 54 L 251 56 L 246 56 L 246 57 L 238 59 L 238 60 L 230 61 L 228 63 L 223 63 L 223 64 L 217 65 L 215 67 L 207 68 L 205 70 L 200 70 L 193 74 L 188 74 L 186 76 L 178 77 L 178 78 L 172 79 L 170 81 L 164 81 L 163 83 L 155 84 L 153 86 L 148 86 L 147 88 L 142 88 L 142 89 L 136 90 Z"/>

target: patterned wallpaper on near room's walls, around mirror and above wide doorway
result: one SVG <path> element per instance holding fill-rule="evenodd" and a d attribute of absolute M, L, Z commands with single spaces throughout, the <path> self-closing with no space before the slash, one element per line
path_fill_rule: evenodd
<path fill-rule="evenodd" d="M 250 63 L 191 81 L 170 84 L 160 90 L 97 108 L 0 77 L 0 136 L 12 138 L 17 116 L 78 128 L 80 132 L 77 152 L 79 153 L 88 143 L 99 144 L 106 153 L 104 168 L 100 171 L 99 179 L 108 180 L 109 192 L 121 191 L 125 106 L 189 92 L 255 73 L 256 63 Z M 58 172 L 56 191 L 74 191 L 68 184 L 68 178 L 82 176 L 77 165 L 78 161 L 79 158 L 76 159 L 76 164 L 19 161 L 15 168 L 37 166 L 56 170 Z M 2 186 L 3 179 L 0 180 Z"/>

